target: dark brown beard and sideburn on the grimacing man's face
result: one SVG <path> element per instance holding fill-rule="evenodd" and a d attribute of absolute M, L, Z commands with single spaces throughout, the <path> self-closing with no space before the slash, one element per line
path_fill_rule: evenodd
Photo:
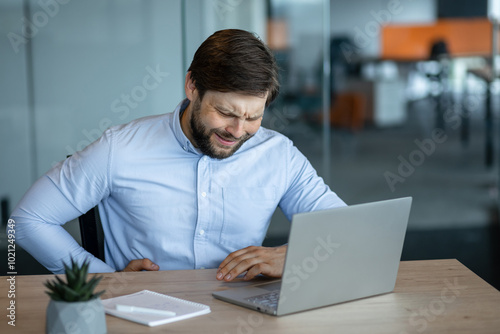
<path fill-rule="evenodd" d="M 229 132 L 222 129 L 208 130 L 205 124 L 203 124 L 200 119 L 200 109 L 201 109 L 201 102 L 199 99 L 196 99 L 193 102 L 193 107 L 191 109 L 191 119 L 189 120 L 189 123 L 193 134 L 194 144 L 198 147 L 201 153 L 208 155 L 210 158 L 215 158 L 215 159 L 229 158 L 231 155 L 234 154 L 234 152 L 236 152 L 241 147 L 241 145 L 243 145 L 248 139 L 252 137 L 252 135 L 246 133 L 238 139 L 235 138 Z M 217 148 L 210 140 L 210 138 L 214 133 L 217 134 L 222 139 L 229 141 L 238 141 L 238 142 L 233 144 L 231 149 L 229 150 L 223 150 L 221 148 Z"/>

